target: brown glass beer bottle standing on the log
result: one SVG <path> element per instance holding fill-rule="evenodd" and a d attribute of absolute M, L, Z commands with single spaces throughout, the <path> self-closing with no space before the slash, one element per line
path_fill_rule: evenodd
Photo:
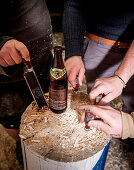
<path fill-rule="evenodd" d="M 50 69 L 49 107 L 54 113 L 67 108 L 67 72 L 62 59 L 62 47 L 54 47 L 54 60 Z"/>

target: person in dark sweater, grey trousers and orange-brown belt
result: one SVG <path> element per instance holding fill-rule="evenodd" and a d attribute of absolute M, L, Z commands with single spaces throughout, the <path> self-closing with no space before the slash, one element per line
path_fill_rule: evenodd
<path fill-rule="evenodd" d="M 89 93 L 96 79 L 114 75 L 119 67 L 134 38 L 134 10 L 121 3 L 118 8 L 114 1 L 64 1 L 65 66 L 73 87 L 76 76 L 82 85 L 85 74 Z M 134 110 L 133 83 L 132 77 L 122 94 L 127 113 Z"/>

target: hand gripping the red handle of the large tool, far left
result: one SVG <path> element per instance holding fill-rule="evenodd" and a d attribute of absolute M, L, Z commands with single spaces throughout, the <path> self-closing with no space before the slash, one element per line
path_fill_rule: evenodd
<path fill-rule="evenodd" d="M 9 40 L 0 50 L 0 65 L 3 67 L 12 66 L 22 62 L 22 57 L 18 51 L 22 53 L 26 61 L 30 60 L 27 47 L 17 40 Z"/>

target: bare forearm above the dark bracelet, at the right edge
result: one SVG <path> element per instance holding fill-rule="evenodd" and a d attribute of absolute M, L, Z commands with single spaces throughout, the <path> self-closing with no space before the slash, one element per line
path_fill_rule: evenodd
<path fill-rule="evenodd" d="M 125 83 L 127 83 L 128 80 L 133 76 L 134 74 L 134 41 L 132 42 L 121 65 L 119 66 L 115 74 L 120 76 L 125 81 Z"/>

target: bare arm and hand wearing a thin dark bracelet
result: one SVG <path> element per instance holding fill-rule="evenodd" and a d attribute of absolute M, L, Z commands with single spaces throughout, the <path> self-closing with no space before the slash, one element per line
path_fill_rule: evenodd
<path fill-rule="evenodd" d="M 115 75 L 120 76 L 125 84 L 134 74 L 134 41 L 128 49 L 121 65 L 116 70 Z M 94 104 L 95 98 L 104 93 L 105 97 L 100 101 L 100 105 L 105 105 L 114 98 L 118 97 L 123 90 L 123 83 L 118 77 L 107 77 L 97 79 L 89 94 L 91 103 Z"/>

